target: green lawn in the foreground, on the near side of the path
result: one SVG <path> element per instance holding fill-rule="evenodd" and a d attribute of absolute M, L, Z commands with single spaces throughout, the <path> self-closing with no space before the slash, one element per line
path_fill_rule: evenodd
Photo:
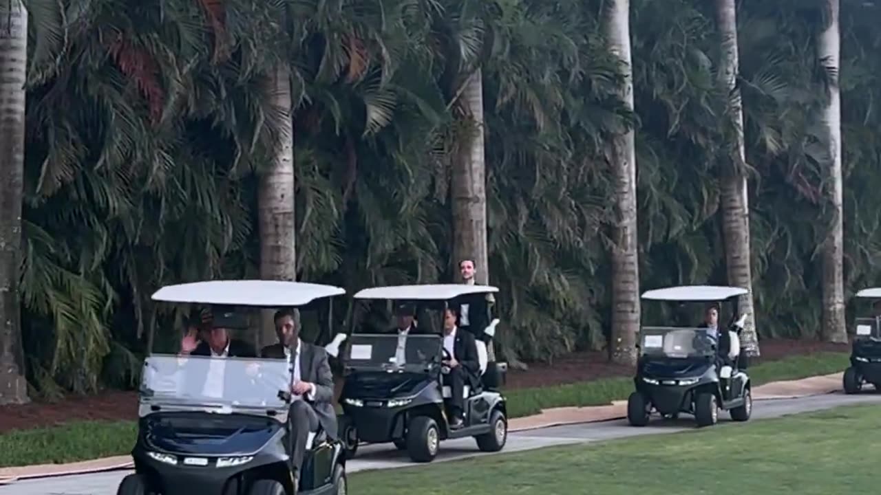
<path fill-rule="evenodd" d="M 744 495 L 872 493 L 881 407 L 818 413 L 599 444 L 438 462 L 349 477 L 352 495 Z"/>

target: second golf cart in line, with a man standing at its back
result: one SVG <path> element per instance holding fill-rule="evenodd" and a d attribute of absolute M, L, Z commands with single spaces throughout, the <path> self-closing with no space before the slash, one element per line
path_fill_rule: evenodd
<path fill-rule="evenodd" d="M 399 337 L 396 330 L 389 331 L 390 325 L 362 327 L 365 332 L 349 337 L 339 401 L 344 410 L 339 417 L 340 439 L 349 458 L 362 441 L 393 442 L 414 462 L 431 462 L 441 440 L 474 437 L 484 452 L 505 446 L 507 408 L 498 387 L 507 364 L 487 362 L 485 351 L 485 341 L 491 340 L 498 319 L 481 329 L 489 339 L 475 339 L 480 376 L 475 380 L 477 387 L 466 384 L 463 389 L 463 424 L 457 428 L 448 423 L 445 401 L 451 388 L 444 383 L 441 365 L 441 360 L 448 359 L 441 336 L 443 310 L 463 296 L 486 297 L 498 291 L 486 285 L 426 284 L 375 287 L 355 294 L 356 301 L 370 307 L 388 307 L 389 303 L 416 307 L 418 332 L 402 337 L 400 349 L 405 356 L 397 354 Z"/>

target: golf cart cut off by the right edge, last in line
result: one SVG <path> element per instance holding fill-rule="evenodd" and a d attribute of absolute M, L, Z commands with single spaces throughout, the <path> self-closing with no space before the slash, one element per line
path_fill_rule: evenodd
<path fill-rule="evenodd" d="M 856 292 L 861 299 L 875 299 L 874 316 L 856 318 L 854 342 L 851 344 L 850 366 L 844 370 L 844 393 L 856 394 L 863 383 L 871 383 L 881 390 L 881 287 Z"/>

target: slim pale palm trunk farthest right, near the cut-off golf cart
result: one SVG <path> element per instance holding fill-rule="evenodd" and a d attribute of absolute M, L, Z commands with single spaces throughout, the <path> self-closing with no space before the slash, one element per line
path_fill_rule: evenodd
<path fill-rule="evenodd" d="M 829 146 L 828 181 L 825 196 L 832 209 L 831 224 L 823 244 L 823 338 L 829 342 L 848 342 L 844 321 L 844 226 L 841 199 L 841 96 L 839 89 L 840 30 L 839 0 L 826 0 L 828 21 L 817 43 L 819 62 L 829 81 L 828 100 L 821 119 Z"/>

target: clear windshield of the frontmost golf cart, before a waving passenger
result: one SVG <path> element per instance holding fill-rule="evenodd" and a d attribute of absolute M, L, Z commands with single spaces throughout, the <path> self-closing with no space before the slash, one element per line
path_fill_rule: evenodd
<path fill-rule="evenodd" d="M 285 359 L 153 354 L 144 361 L 141 397 L 168 405 L 278 409 L 290 383 Z"/>

